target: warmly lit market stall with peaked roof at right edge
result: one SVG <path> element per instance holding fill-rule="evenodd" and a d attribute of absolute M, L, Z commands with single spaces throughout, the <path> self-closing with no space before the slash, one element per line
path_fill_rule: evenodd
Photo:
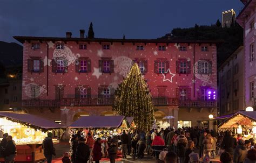
<path fill-rule="evenodd" d="M 244 139 L 256 140 L 256 111 L 238 111 L 218 125 L 218 131 L 234 131 Z"/>

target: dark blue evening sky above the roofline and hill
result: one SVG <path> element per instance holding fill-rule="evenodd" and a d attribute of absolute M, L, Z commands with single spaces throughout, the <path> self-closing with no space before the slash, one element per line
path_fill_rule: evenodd
<path fill-rule="evenodd" d="M 176 27 L 214 24 L 222 11 L 238 15 L 242 7 L 239 0 L 0 0 L 0 40 L 66 31 L 78 37 L 90 22 L 99 38 L 157 38 Z"/>

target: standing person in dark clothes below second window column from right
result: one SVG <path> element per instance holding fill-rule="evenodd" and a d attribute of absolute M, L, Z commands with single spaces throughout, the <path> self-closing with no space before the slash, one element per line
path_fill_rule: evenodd
<path fill-rule="evenodd" d="M 187 138 L 185 137 L 184 131 L 180 132 L 180 135 L 176 138 L 175 144 L 177 145 L 177 155 L 179 158 L 179 162 L 184 162 L 187 146 Z"/>

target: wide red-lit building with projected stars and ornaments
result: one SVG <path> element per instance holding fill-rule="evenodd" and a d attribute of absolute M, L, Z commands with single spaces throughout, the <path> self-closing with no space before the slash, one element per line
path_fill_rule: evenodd
<path fill-rule="evenodd" d="M 208 125 L 217 116 L 217 41 L 14 37 L 23 43 L 22 107 L 69 125 L 113 115 L 114 91 L 137 63 L 171 125 Z M 190 116 L 188 116 L 190 115 Z"/>

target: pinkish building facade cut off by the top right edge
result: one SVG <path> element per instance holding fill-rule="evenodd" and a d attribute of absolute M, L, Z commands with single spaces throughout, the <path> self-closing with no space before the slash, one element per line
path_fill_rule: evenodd
<path fill-rule="evenodd" d="M 256 58 L 255 22 L 256 1 L 242 1 L 244 9 L 239 13 L 237 22 L 244 28 L 244 65 L 245 65 L 245 107 L 256 107 Z"/>

